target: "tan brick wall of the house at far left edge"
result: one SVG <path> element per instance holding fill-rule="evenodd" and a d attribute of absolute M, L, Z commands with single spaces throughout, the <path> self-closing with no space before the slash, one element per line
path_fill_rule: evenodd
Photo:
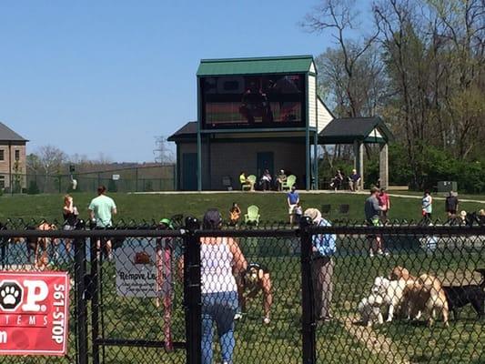
<path fill-rule="evenodd" d="M 19 175 L 22 188 L 25 188 L 26 183 L 26 147 L 25 143 L 12 143 L 9 147 L 8 142 L 0 142 L 0 150 L 4 151 L 4 160 L 0 160 L 0 176 L 4 177 L 5 188 L 10 187 L 10 174 Z M 18 150 L 19 158 L 15 160 L 15 150 Z M 9 162 L 10 161 L 10 162 Z M 0 177 L 0 178 L 1 178 Z M 12 177 L 13 180 L 14 177 Z M 1 182 L 0 182 L 1 183 Z"/>

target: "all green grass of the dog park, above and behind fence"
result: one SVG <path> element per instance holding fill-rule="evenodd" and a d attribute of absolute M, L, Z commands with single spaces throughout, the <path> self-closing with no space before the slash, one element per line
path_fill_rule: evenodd
<path fill-rule="evenodd" d="M 77 207 L 86 217 L 86 207 L 91 199 L 88 194 L 76 194 Z M 116 218 L 136 220 L 160 218 L 176 213 L 200 217 L 208 207 L 227 211 L 232 201 L 248 207 L 256 204 L 261 208 L 263 220 L 287 218 L 285 196 L 278 193 L 190 194 L 190 195 L 125 195 L 114 194 L 119 209 Z M 350 218 L 363 218 L 365 195 L 353 194 L 301 194 L 304 207 L 320 207 L 322 204 L 348 203 Z M 435 203 L 435 216 L 444 217 L 442 201 Z M 7 217 L 25 219 L 45 217 L 60 219 L 62 195 L 2 197 L 0 220 Z M 466 209 L 478 209 L 478 204 L 463 204 Z M 391 217 L 419 219 L 419 200 L 392 198 Z M 338 214 L 332 214 L 338 217 Z M 406 239 L 405 239 L 406 240 Z M 236 363 L 298 363 L 301 362 L 301 277 L 298 256 L 299 241 L 296 238 L 241 238 L 239 244 L 249 261 L 265 264 L 271 271 L 274 293 L 272 321 L 262 325 L 261 298 L 248 304 L 246 317 L 237 323 L 235 350 Z M 483 247 L 447 249 L 441 248 L 432 255 L 421 250 L 416 238 L 390 241 L 389 258 L 368 258 L 365 252 L 368 242 L 359 236 L 338 237 L 338 255 L 334 273 L 334 297 L 332 309 L 336 320 L 330 324 L 318 324 L 318 363 L 384 363 L 389 352 L 359 336 L 349 333 L 345 320 L 356 318 L 359 300 L 367 296 L 373 279 L 388 275 L 391 268 L 402 265 L 419 275 L 429 272 L 444 277 L 450 273 L 468 274 L 473 268 L 483 267 Z M 407 248 L 404 250 L 404 248 Z M 413 249 L 410 249 L 413 248 Z M 66 266 L 72 268 L 72 266 Z M 163 315 L 151 298 L 123 298 L 116 294 L 114 266 L 105 263 L 103 273 L 103 329 L 107 339 L 163 339 Z M 73 292 L 72 292 L 73 293 Z M 74 312 L 74 301 L 71 300 Z M 182 307 L 181 283 L 176 284 L 174 312 L 174 339 L 185 340 L 184 309 Z M 70 348 L 75 353 L 74 316 L 70 322 Z M 373 331 L 379 338 L 392 341 L 400 357 L 413 363 L 482 363 L 485 361 L 484 320 L 477 320 L 474 311 L 463 308 L 460 320 L 451 321 L 444 328 L 440 320 L 433 328 L 397 319 L 390 324 L 377 326 Z M 217 355 L 217 344 L 215 345 Z M 154 362 L 184 363 L 185 353 L 178 350 L 167 354 L 163 349 L 137 349 L 108 347 L 102 351 L 106 363 Z M 67 359 L 1 358 L 1 363 L 66 363 Z"/>

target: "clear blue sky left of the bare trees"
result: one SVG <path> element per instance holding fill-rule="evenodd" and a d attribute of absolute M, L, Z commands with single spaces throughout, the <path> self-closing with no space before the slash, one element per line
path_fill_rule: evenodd
<path fill-rule="evenodd" d="M 0 121 L 31 142 L 153 161 L 197 116 L 201 58 L 318 56 L 318 0 L 0 2 Z"/>

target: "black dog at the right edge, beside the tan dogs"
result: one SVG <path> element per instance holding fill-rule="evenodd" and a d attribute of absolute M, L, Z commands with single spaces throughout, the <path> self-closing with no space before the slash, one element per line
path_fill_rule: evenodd
<path fill-rule="evenodd" d="M 448 299 L 448 306 L 453 312 L 455 319 L 458 319 L 457 308 L 462 308 L 469 303 L 477 312 L 479 319 L 484 312 L 485 300 L 485 268 L 475 269 L 481 274 L 482 281 L 480 285 L 466 285 L 466 286 L 443 286 L 446 298 Z"/>

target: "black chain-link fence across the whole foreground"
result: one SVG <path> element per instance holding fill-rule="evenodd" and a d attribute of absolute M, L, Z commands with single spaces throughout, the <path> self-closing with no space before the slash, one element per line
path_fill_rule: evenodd
<path fill-rule="evenodd" d="M 67 355 L 0 363 L 485 361 L 483 226 L 40 225 L 7 220 L 0 263 L 69 273 Z"/>

